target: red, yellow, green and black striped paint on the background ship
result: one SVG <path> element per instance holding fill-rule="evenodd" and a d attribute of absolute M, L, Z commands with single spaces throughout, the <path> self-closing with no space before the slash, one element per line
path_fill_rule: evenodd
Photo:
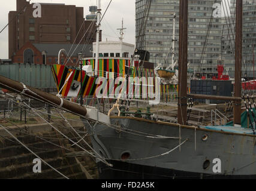
<path fill-rule="evenodd" d="M 83 64 L 90 64 L 92 67 L 95 67 L 95 60 L 84 60 Z M 109 73 L 114 72 L 115 78 L 119 77 L 125 77 L 125 74 L 131 72 L 131 76 L 135 77 L 141 77 L 144 76 L 146 79 L 148 77 L 154 77 L 153 69 L 146 69 L 146 68 L 131 68 L 129 69 L 128 66 L 131 65 L 130 60 L 121 60 L 121 59 L 100 59 L 99 60 L 99 71 L 100 77 L 109 78 Z M 127 67 L 126 67 L 127 66 Z M 82 72 L 82 78 L 81 78 L 81 72 L 80 69 L 71 69 L 67 66 L 62 66 L 60 64 L 56 64 L 52 66 L 52 72 L 55 79 L 56 86 L 58 88 L 58 92 L 62 97 L 70 97 L 70 92 L 74 91 L 76 95 L 73 95 L 71 97 L 78 97 L 82 95 L 84 97 L 95 97 L 96 90 L 101 84 L 96 84 L 97 78 L 86 75 L 85 71 Z M 108 72 L 108 73 L 106 73 Z M 80 87 L 81 79 L 83 79 L 82 82 L 82 88 L 80 88 L 79 91 L 75 91 L 76 88 Z M 107 80 L 107 84 L 104 85 L 104 90 L 101 90 L 101 93 L 103 95 L 107 95 L 108 97 L 112 96 L 115 93 L 116 87 L 118 85 L 113 85 L 113 80 Z M 110 87 L 115 87 L 114 90 L 110 92 Z M 161 95 L 164 95 L 164 100 L 166 98 L 165 94 L 169 92 L 173 92 L 177 88 L 171 87 L 171 85 L 161 85 Z M 140 93 L 142 91 L 142 88 L 140 88 Z M 154 91 L 155 92 L 155 91 Z M 134 95 L 135 97 L 135 95 Z M 142 98 L 142 97 L 141 97 Z M 170 96 L 168 96 L 170 98 Z"/>

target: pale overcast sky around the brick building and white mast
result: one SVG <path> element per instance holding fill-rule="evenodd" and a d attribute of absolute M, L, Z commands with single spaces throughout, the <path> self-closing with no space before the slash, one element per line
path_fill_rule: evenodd
<path fill-rule="evenodd" d="M 28 1 L 28 0 L 27 0 Z M 8 2 L 8 3 L 7 3 Z M 89 6 L 97 5 L 97 0 L 31 0 L 31 3 L 62 3 L 66 5 L 76 5 L 83 7 L 85 16 L 90 14 Z M 109 5 L 110 0 L 101 0 L 102 12 Z M 16 11 L 16 0 L 5 1 L 0 6 L 0 31 L 8 23 L 9 11 Z M 104 16 L 102 23 L 103 40 L 118 40 L 118 28 L 121 28 L 122 18 L 124 18 L 125 42 L 135 44 L 135 0 L 113 0 L 109 10 Z M 0 33 L 0 58 L 8 58 L 8 27 Z"/>

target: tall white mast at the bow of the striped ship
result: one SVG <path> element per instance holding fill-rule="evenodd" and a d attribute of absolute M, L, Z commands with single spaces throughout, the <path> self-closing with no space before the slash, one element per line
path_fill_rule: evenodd
<path fill-rule="evenodd" d="M 99 60 L 99 52 L 100 52 L 100 21 L 101 21 L 101 1 L 98 0 L 98 5 L 97 5 L 96 56 L 95 56 L 95 72 L 94 72 L 95 76 L 98 76 L 98 60 Z"/>

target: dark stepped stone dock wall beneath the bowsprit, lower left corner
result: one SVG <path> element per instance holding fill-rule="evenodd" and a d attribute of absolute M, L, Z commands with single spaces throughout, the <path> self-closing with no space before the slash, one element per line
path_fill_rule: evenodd
<path fill-rule="evenodd" d="M 75 137 L 74 132 L 66 127 L 64 121 L 59 121 L 59 130 L 68 137 Z M 76 130 L 84 131 L 82 122 L 71 122 Z M 92 179 L 98 178 L 98 169 L 95 159 L 91 156 L 72 156 L 71 153 L 80 152 L 72 146 L 70 140 L 53 130 L 49 124 L 22 125 L 19 127 L 8 127 L 10 132 L 15 135 L 29 149 L 40 156 L 41 159 L 52 165 L 56 170 L 71 179 Z M 27 133 L 25 133 L 25 131 Z M 44 137 L 42 140 L 39 137 Z M 77 136 L 76 136 L 77 137 Z M 77 138 L 72 138 L 77 142 Z M 51 143 L 49 143 L 49 141 Z M 90 143 L 89 137 L 86 141 Z M 62 149 L 62 146 L 67 148 Z M 89 147 L 86 145 L 86 150 Z M 37 158 L 29 152 L 22 144 L 18 143 L 3 128 L 0 127 L 0 178 L 17 178 L 17 179 L 58 179 L 64 178 L 61 174 L 41 162 L 41 173 L 34 173 L 33 160 Z"/>

